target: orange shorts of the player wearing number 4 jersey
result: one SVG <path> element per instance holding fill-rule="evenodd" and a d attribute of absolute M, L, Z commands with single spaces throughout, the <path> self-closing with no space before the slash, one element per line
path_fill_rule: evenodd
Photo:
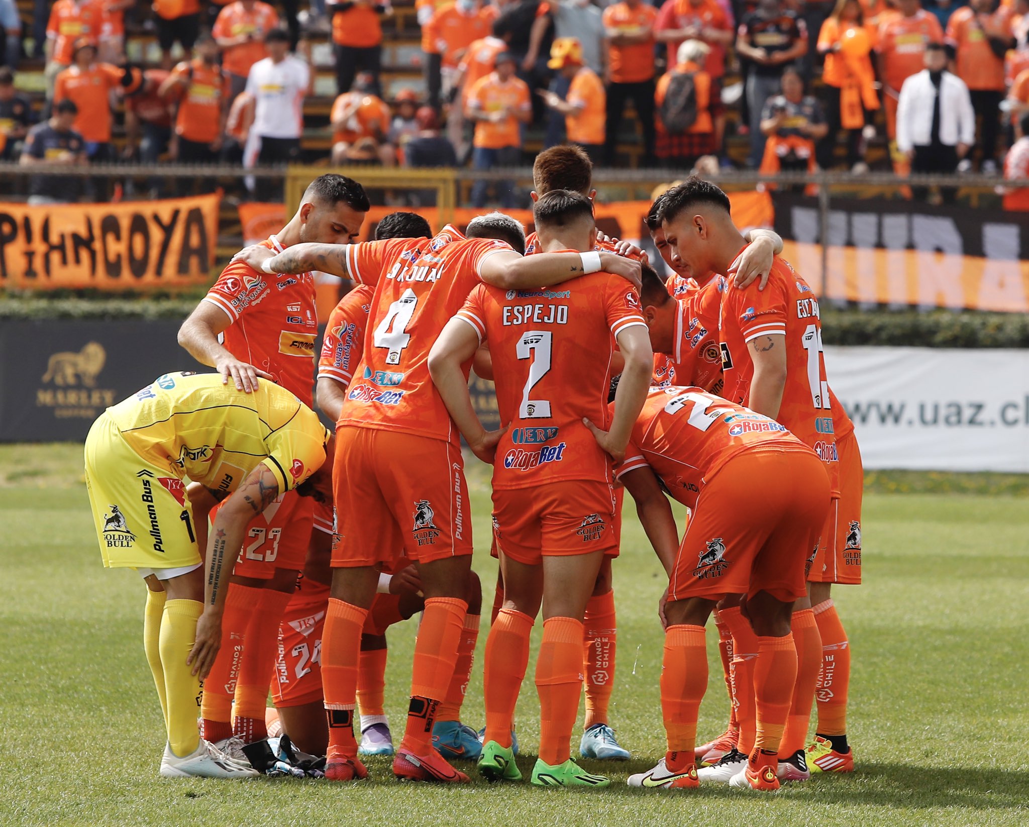
<path fill-rule="evenodd" d="M 441 439 L 345 426 L 335 435 L 332 566 L 471 554 L 461 448 Z"/>

